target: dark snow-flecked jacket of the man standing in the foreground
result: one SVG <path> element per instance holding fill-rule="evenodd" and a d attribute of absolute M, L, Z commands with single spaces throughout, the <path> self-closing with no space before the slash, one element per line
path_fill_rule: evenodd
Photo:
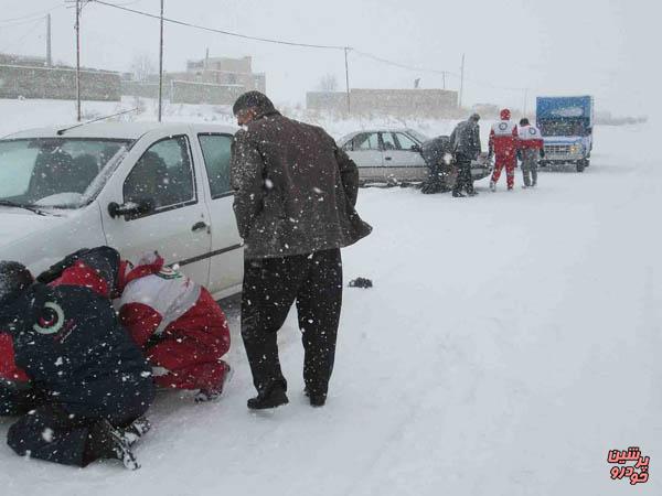
<path fill-rule="evenodd" d="M 235 134 L 231 177 L 246 258 L 341 248 L 372 230 L 354 209 L 356 164 L 323 129 L 275 110 Z"/>

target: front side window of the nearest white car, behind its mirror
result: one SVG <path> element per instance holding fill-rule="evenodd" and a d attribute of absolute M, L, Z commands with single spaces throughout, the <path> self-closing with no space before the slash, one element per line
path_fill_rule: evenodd
<path fill-rule="evenodd" d="M 189 140 L 167 138 L 138 160 L 124 184 L 125 202 L 150 201 L 156 209 L 195 201 Z"/>

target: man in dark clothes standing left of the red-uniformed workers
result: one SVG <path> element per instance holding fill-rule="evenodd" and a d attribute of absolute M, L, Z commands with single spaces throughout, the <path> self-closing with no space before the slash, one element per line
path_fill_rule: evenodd
<path fill-rule="evenodd" d="M 477 195 L 473 190 L 473 177 L 471 176 L 471 161 L 478 159 L 481 152 L 480 127 L 478 121 L 480 116 L 472 114 L 469 119 L 456 126 L 450 134 L 450 142 L 455 153 L 458 177 L 452 188 L 452 196 L 463 197 L 462 190 L 469 196 Z"/>

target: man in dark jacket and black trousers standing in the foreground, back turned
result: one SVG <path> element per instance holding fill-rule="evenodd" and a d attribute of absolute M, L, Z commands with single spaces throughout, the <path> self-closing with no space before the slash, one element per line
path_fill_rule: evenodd
<path fill-rule="evenodd" d="M 312 406 L 327 399 L 342 304 L 340 248 L 372 228 L 354 209 L 359 171 L 323 129 L 281 116 L 259 91 L 234 105 L 234 211 L 244 238 L 242 337 L 257 397 L 287 403 L 276 334 L 296 301 Z"/>

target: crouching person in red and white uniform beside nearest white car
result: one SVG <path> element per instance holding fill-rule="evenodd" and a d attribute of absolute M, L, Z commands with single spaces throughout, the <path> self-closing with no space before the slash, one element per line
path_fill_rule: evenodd
<path fill-rule="evenodd" d="M 231 371 L 225 314 L 210 292 L 151 254 L 120 277 L 119 317 L 153 367 L 157 386 L 216 399 Z"/>

